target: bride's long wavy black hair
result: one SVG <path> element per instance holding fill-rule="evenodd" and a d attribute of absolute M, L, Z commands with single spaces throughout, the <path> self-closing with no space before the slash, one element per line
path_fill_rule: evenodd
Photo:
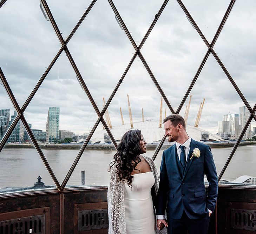
<path fill-rule="evenodd" d="M 126 132 L 117 146 L 117 153 L 114 155 L 114 161 L 111 162 L 113 165 L 116 162 L 116 173 L 119 178 L 118 182 L 127 182 L 129 187 L 131 187 L 130 184 L 133 178 L 131 173 L 141 161 L 139 158 L 141 152 L 139 145 L 140 140 L 140 130 L 136 129 Z M 110 168 L 113 165 L 111 165 Z"/>

